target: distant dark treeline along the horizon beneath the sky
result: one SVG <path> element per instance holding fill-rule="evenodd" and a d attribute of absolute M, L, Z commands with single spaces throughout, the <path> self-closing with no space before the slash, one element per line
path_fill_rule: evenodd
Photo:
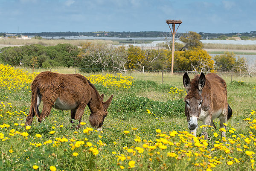
<path fill-rule="evenodd" d="M 183 33 L 177 33 L 177 35 L 182 35 Z M 0 33 L 0 36 L 5 36 L 6 33 Z M 28 36 L 45 36 L 45 37 L 65 37 L 65 36 L 94 36 L 94 37 L 118 37 L 118 38 L 156 38 L 156 37 L 166 37 L 170 35 L 170 32 L 40 32 L 40 33 L 23 33 L 23 35 Z M 199 35 L 203 39 L 206 38 L 219 38 L 220 36 L 232 37 L 237 35 L 239 37 L 256 37 L 256 31 L 244 32 L 244 33 L 204 33 L 199 32 Z"/>

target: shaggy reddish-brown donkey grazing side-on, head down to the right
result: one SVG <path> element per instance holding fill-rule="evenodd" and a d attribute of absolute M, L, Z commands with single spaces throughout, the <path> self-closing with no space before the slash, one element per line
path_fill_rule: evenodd
<path fill-rule="evenodd" d="M 90 124 L 94 128 L 102 130 L 105 117 L 108 114 L 108 107 L 113 95 L 103 102 L 103 94 L 100 96 L 93 84 L 80 74 L 59 74 L 54 72 L 41 72 L 31 85 L 31 106 L 29 116 L 26 118 L 26 125 L 31 125 L 33 117 L 38 117 L 41 122 L 49 116 L 52 107 L 60 110 L 71 110 L 71 120 L 81 122 L 84 108 L 88 105 Z M 40 114 L 38 107 L 43 101 L 44 107 Z M 78 125 L 80 128 L 80 124 Z"/>

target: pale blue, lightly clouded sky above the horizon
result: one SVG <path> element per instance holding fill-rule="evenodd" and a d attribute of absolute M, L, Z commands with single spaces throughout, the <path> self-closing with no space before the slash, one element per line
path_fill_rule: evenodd
<path fill-rule="evenodd" d="M 256 0 L 0 0 L 0 32 L 256 31 Z"/>

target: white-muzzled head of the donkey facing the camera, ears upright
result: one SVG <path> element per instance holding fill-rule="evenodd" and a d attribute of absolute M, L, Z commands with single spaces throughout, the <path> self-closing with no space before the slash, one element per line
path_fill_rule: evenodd
<path fill-rule="evenodd" d="M 195 130 L 198 128 L 198 117 L 201 113 L 201 104 L 203 103 L 202 89 L 205 85 L 205 75 L 202 72 L 198 79 L 198 75 L 190 83 L 189 75 L 185 73 L 183 75 L 183 85 L 186 88 L 187 95 L 184 99 L 185 114 L 187 121 L 189 122 L 189 129 Z"/>

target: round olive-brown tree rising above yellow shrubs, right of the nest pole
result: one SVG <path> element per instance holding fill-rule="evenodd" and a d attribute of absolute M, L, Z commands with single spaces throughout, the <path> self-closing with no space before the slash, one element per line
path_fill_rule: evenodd
<path fill-rule="evenodd" d="M 191 50 L 191 49 L 202 49 L 203 43 L 200 41 L 201 35 L 196 32 L 184 33 L 180 36 L 180 41 L 184 43 L 181 50 Z"/>

